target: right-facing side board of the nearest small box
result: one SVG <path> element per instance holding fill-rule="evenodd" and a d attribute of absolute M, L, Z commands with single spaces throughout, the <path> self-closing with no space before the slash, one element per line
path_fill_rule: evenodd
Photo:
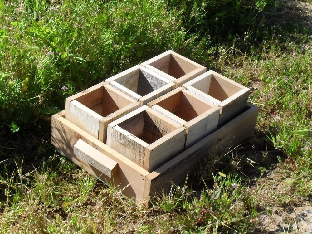
<path fill-rule="evenodd" d="M 146 147 L 143 168 L 154 171 L 184 149 L 186 129 L 179 127 Z"/>

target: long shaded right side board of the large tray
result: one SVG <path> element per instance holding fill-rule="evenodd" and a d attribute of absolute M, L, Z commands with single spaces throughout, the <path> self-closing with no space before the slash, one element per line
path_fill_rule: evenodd
<path fill-rule="evenodd" d="M 186 149 L 177 157 L 155 169 L 147 176 L 151 180 L 150 196 L 171 187 L 171 182 L 180 183 L 187 174 L 198 171 L 198 164 L 209 152 L 219 154 L 227 147 L 241 143 L 254 131 L 258 107 L 248 104 L 249 109 L 228 124 Z M 243 127 L 243 128 L 242 128 Z M 242 131 L 241 131 L 242 130 Z M 235 140 L 234 140 L 235 139 Z"/>

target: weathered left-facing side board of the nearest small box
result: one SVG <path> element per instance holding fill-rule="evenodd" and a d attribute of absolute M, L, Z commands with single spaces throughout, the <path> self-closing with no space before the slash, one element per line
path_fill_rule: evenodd
<path fill-rule="evenodd" d="M 143 167 L 145 148 L 149 144 L 117 125 L 112 130 L 110 145 L 119 154 Z"/>

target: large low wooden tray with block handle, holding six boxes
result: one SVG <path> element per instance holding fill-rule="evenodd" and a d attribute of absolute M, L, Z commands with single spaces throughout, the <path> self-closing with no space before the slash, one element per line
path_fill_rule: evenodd
<path fill-rule="evenodd" d="M 61 154 L 96 178 L 119 186 L 126 197 L 148 205 L 155 193 L 197 171 L 198 163 L 209 152 L 220 154 L 249 137 L 257 115 L 258 108 L 248 103 L 236 118 L 151 173 L 65 119 L 64 111 L 52 116 L 51 142 Z"/>

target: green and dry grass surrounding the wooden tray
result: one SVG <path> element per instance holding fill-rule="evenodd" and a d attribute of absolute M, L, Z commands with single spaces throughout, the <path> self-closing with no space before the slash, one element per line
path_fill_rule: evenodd
<path fill-rule="evenodd" d="M 311 199 L 312 29 L 289 4 L 0 1 L 0 233 L 248 233 Z M 168 49 L 250 87 L 260 112 L 250 139 L 146 208 L 55 152 L 50 118 Z"/>

